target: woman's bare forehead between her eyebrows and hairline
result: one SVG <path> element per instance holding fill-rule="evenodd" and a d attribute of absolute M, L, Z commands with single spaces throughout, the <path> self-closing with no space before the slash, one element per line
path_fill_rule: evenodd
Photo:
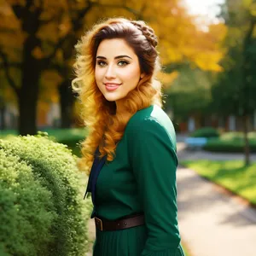
<path fill-rule="evenodd" d="M 131 46 L 126 43 L 125 39 L 113 38 L 102 40 L 96 55 L 111 57 L 115 55 L 135 55 L 135 52 Z"/>

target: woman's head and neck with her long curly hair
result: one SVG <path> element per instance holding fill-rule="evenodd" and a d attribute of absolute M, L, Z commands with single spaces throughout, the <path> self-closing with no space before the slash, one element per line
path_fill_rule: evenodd
<path fill-rule="evenodd" d="M 143 21 L 108 22 L 94 26 L 76 45 L 73 89 L 79 92 L 82 119 L 91 131 L 82 148 L 80 164 L 85 169 L 91 166 L 97 147 L 101 158 L 107 154 L 113 160 L 134 113 L 152 104 L 162 106 L 160 83 L 155 79 L 160 61 L 153 29 Z"/>

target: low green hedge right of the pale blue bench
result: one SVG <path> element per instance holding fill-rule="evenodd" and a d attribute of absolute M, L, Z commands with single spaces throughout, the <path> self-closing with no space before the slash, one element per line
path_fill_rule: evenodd
<path fill-rule="evenodd" d="M 256 142 L 254 140 L 249 141 L 250 151 L 256 152 Z M 243 139 L 210 139 L 203 149 L 212 152 L 230 152 L 230 153 L 241 153 L 244 150 Z"/>

